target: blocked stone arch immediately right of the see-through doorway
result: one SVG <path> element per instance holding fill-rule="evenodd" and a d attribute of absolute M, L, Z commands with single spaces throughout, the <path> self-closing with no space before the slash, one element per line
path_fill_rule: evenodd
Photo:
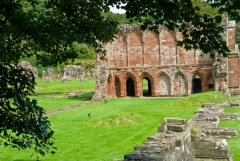
<path fill-rule="evenodd" d="M 170 77 L 165 72 L 161 72 L 159 78 L 160 95 L 171 95 Z"/>

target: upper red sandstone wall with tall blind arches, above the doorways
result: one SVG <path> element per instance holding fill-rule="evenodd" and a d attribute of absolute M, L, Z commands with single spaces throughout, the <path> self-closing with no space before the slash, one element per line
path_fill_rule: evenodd
<path fill-rule="evenodd" d="M 211 64 L 209 55 L 200 51 L 186 51 L 177 46 L 180 33 L 162 29 L 152 31 L 133 29 L 129 33 L 119 30 L 117 37 L 106 45 L 108 67 L 148 67 L 165 65 Z"/>

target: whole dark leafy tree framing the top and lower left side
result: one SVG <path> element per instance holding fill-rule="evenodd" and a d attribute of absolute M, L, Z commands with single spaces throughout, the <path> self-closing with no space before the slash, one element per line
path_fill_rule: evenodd
<path fill-rule="evenodd" d="M 27 98 L 33 90 L 31 74 L 10 63 L 32 55 L 51 64 L 67 62 L 78 57 L 74 42 L 104 54 L 102 44 L 111 41 L 117 32 L 116 20 L 103 14 L 113 5 L 125 9 L 126 17 L 139 22 L 142 29 L 159 32 L 159 25 L 164 25 L 182 32 L 178 45 L 186 49 L 227 56 L 229 49 L 221 35 L 222 14 L 240 19 L 240 4 L 238 0 L 207 2 L 217 9 L 216 15 L 201 12 L 191 0 L 1 0 L 0 62 L 5 65 L 0 64 L 0 119 L 4 120 L 0 134 L 5 145 L 35 146 L 44 155 L 53 144 L 44 110 Z M 16 127 L 11 126 L 12 122 Z"/>

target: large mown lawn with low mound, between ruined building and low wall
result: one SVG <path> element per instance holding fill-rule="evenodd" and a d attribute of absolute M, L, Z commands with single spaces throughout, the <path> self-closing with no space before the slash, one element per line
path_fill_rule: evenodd
<path fill-rule="evenodd" d="M 44 161 L 113 161 L 157 132 L 165 117 L 189 119 L 202 103 L 225 102 L 226 96 L 208 92 L 186 98 L 118 98 L 49 116 L 55 131 L 55 155 Z M 91 114 L 91 118 L 88 117 Z M 31 150 L 0 147 L 2 161 L 33 161 Z M 14 155 L 13 155 L 14 154 Z"/>

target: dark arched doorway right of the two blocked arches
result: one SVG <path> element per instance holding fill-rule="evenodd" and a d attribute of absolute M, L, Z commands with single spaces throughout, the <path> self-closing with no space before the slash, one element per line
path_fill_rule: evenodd
<path fill-rule="evenodd" d="M 203 75 L 196 71 L 192 77 L 192 94 L 202 92 Z"/>

